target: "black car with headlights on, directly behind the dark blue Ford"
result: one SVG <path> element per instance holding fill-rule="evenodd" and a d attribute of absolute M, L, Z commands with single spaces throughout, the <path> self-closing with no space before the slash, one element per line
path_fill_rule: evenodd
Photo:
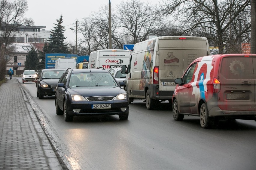
<path fill-rule="evenodd" d="M 55 95 L 59 78 L 66 69 L 43 69 L 36 77 L 36 96 L 43 99 L 44 96 Z"/>

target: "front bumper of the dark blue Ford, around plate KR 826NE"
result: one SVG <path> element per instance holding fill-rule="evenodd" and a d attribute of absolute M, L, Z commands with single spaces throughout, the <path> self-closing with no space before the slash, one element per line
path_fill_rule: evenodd
<path fill-rule="evenodd" d="M 92 109 L 92 104 L 111 104 L 110 109 Z M 128 101 L 70 101 L 67 100 L 68 113 L 73 116 L 85 115 L 121 115 L 129 113 Z M 126 108 L 122 111 L 121 108 Z M 80 109 L 79 112 L 74 112 L 74 109 Z"/>

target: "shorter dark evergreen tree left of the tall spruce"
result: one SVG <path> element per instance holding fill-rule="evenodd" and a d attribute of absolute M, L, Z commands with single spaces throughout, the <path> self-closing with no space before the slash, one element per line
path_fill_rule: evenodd
<path fill-rule="evenodd" d="M 34 47 L 31 47 L 31 51 L 26 55 L 24 70 L 37 70 L 38 56 Z"/>

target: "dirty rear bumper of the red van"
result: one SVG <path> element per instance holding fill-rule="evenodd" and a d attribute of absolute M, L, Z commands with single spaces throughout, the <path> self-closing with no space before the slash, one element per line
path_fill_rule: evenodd
<path fill-rule="evenodd" d="M 237 119 L 255 120 L 256 110 L 221 110 L 219 107 L 212 107 L 208 111 L 209 117 L 213 116 L 224 116 L 228 117 L 238 117 Z"/>

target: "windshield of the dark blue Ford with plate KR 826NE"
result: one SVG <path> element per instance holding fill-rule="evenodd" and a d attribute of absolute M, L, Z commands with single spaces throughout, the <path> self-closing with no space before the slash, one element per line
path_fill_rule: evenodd
<path fill-rule="evenodd" d="M 69 87 L 117 86 L 110 73 L 74 73 L 71 75 Z"/>

